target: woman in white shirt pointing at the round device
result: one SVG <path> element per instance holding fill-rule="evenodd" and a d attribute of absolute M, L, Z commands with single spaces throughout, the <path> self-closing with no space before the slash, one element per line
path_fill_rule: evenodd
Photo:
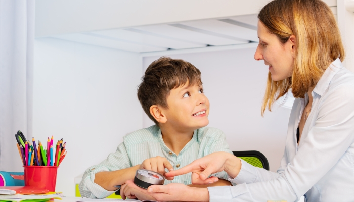
<path fill-rule="evenodd" d="M 237 186 L 192 188 L 182 184 L 140 189 L 127 181 L 125 195 L 157 200 L 307 201 L 354 200 L 354 73 L 346 70 L 340 33 L 330 8 L 320 0 L 274 0 L 258 15 L 254 58 L 269 66 L 262 105 L 291 88 L 294 97 L 286 147 L 277 173 L 226 153 L 213 153 L 166 174 L 192 172 L 193 184 L 213 183 L 225 170 Z"/>

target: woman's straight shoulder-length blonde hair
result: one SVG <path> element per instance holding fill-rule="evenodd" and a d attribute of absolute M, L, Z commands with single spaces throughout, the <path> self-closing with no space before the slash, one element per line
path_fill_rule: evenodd
<path fill-rule="evenodd" d="M 274 0 L 262 8 L 258 19 L 282 43 L 294 35 L 297 47 L 291 77 L 273 81 L 268 73 L 263 116 L 290 88 L 294 97 L 303 98 L 334 60 L 344 60 L 345 53 L 334 15 L 321 0 Z"/>

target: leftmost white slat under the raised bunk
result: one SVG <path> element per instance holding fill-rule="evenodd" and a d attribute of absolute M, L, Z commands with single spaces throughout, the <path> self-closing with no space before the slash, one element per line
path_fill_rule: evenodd
<path fill-rule="evenodd" d="M 130 41 L 124 41 L 120 39 L 111 39 L 98 37 L 91 33 L 77 33 L 77 34 L 65 34 L 53 36 L 54 38 L 75 41 L 80 43 L 86 43 L 90 45 L 97 45 L 102 47 L 109 47 L 120 49 L 122 51 L 130 52 L 153 52 L 153 51 L 166 51 L 167 48 L 157 47 L 157 46 L 147 46 L 139 43 L 131 43 Z"/>

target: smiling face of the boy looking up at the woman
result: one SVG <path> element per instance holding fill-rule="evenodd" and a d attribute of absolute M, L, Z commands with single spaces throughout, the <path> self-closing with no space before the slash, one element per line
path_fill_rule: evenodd
<path fill-rule="evenodd" d="M 202 86 L 190 85 L 170 90 L 167 96 L 168 109 L 164 109 L 167 122 L 176 130 L 196 130 L 209 124 L 209 100 Z"/>

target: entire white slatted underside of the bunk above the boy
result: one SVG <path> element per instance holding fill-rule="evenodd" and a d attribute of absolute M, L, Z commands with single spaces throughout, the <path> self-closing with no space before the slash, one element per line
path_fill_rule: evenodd
<path fill-rule="evenodd" d="M 156 52 L 257 42 L 257 15 L 180 23 L 137 26 L 51 36 L 54 38 L 120 49 Z"/>

